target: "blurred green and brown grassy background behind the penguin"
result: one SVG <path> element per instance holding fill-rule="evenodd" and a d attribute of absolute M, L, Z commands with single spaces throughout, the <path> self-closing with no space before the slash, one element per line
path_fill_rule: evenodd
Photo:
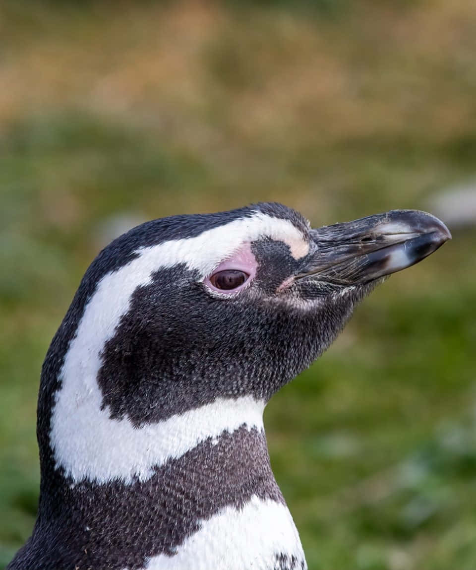
<path fill-rule="evenodd" d="M 83 272 L 146 219 L 281 201 L 314 225 L 431 210 L 268 406 L 311 570 L 476 568 L 473 0 L 0 7 L 0 567 L 38 499 L 40 367 Z"/>

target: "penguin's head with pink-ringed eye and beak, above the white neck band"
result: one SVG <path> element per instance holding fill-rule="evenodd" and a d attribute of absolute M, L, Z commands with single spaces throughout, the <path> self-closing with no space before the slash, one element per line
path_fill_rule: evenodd
<path fill-rule="evenodd" d="M 137 426 L 216 397 L 267 401 L 385 275 L 449 237 L 419 211 L 312 229 L 277 203 L 147 222 L 85 274 L 71 367 L 97 353 L 102 406 Z"/>

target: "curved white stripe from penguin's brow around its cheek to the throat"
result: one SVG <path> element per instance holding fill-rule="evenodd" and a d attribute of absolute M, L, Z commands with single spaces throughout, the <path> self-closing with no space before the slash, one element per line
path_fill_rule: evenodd
<path fill-rule="evenodd" d="M 262 428 L 262 402 L 246 398 L 226 404 L 219 399 L 210 404 L 212 408 L 208 411 L 215 417 L 213 425 L 198 421 L 204 413 L 198 409 L 136 428 L 127 418 L 112 420 L 108 408 L 101 409 L 97 375 L 102 365 L 101 352 L 115 335 L 121 317 L 130 310 L 134 291 L 150 284 L 154 271 L 185 263 L 189 269 L 206 276 L 241 243 L 263 236 L 286 241 L 295 254 L 305 249 L 301 232 L 290 221 L 257 213 L 194 238 L 144 247 L 138 250 L 137 258 L 100 279 L 69 343 L 59 374 L 61 387 L 55 393 L 50 431 L 56 467 L 63 467 L 75 481 L 147 479 L 154 465 L 185 453 L 203 438 L 216 437 L 224 430 L 233 431 L 242 424 Z M 190 418 L 198 421 L 198 431 L 187 432 Z M 170 433 L 178 434 L 182 429 L 186 433 L 180 436 L 183 441 L 170 439 Z"/>

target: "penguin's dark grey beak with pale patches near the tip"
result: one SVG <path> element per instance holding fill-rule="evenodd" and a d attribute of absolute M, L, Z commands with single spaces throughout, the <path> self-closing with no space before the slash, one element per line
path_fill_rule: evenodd
<path fill-rule="evenodd" d="M 311 230 L 316 249 L 296 279 L 356 285 L 418 263 L 451 234 L 443 222 L 418 210 L 392 210 Z"/>

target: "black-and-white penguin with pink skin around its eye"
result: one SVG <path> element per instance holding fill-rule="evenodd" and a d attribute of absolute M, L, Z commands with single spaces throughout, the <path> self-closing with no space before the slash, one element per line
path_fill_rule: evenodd
<path fill-rule="evenodd" d="M 86 271 L 43 364 L 41 486 L 10 570 L 302 570 L 262 413 L 385 275 L 450 238 L 277 203 L 144 223 Z"/>

